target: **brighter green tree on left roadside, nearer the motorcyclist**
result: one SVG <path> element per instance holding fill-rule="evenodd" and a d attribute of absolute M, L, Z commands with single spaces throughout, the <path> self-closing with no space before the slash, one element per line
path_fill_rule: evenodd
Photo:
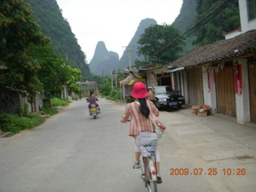
<path fill-rule="evenodd" d="M 38 78 L 42 82 L 46 98 L 58 96 L 63 86 L 75 93 L 80 91 L 76 82 L 82 78 L 81 70 L 72 68 L 64 58 L 55 54 L 53 46 L 34 46 L 30 56 L 37 59 L 41 66 Z"/>

